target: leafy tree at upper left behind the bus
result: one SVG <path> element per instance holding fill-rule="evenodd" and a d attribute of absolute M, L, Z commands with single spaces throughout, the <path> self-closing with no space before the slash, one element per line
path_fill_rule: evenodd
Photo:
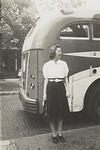
<path fill-rule="evenodd" d="M 22 48 L 37 13 L 32 0 L 3 0 L 0 21 L 2 48 Z"/>

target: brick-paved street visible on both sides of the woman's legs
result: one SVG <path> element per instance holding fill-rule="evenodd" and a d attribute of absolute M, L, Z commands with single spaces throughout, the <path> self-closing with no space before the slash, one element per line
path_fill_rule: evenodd
<path fill-rule="evenodd" d="M 1 96 L 2 140 L 33 136 L 51 132 L 41 115 L 36 116 L 23 110 L 18 95 Z M 64 119 L 63 131 L 81 127 L 97 126 L 80 113 L 71 113 Z"/>

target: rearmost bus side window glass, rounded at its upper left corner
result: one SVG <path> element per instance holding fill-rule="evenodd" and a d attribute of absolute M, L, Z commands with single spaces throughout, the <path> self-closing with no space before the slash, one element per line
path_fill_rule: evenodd
<path fill-rule="evenodd" d="M 89 27 L 86 24 L 72 24 L 61 30 L 60 38 L 64 37 L 80 37 L 88 38 Z"/>

